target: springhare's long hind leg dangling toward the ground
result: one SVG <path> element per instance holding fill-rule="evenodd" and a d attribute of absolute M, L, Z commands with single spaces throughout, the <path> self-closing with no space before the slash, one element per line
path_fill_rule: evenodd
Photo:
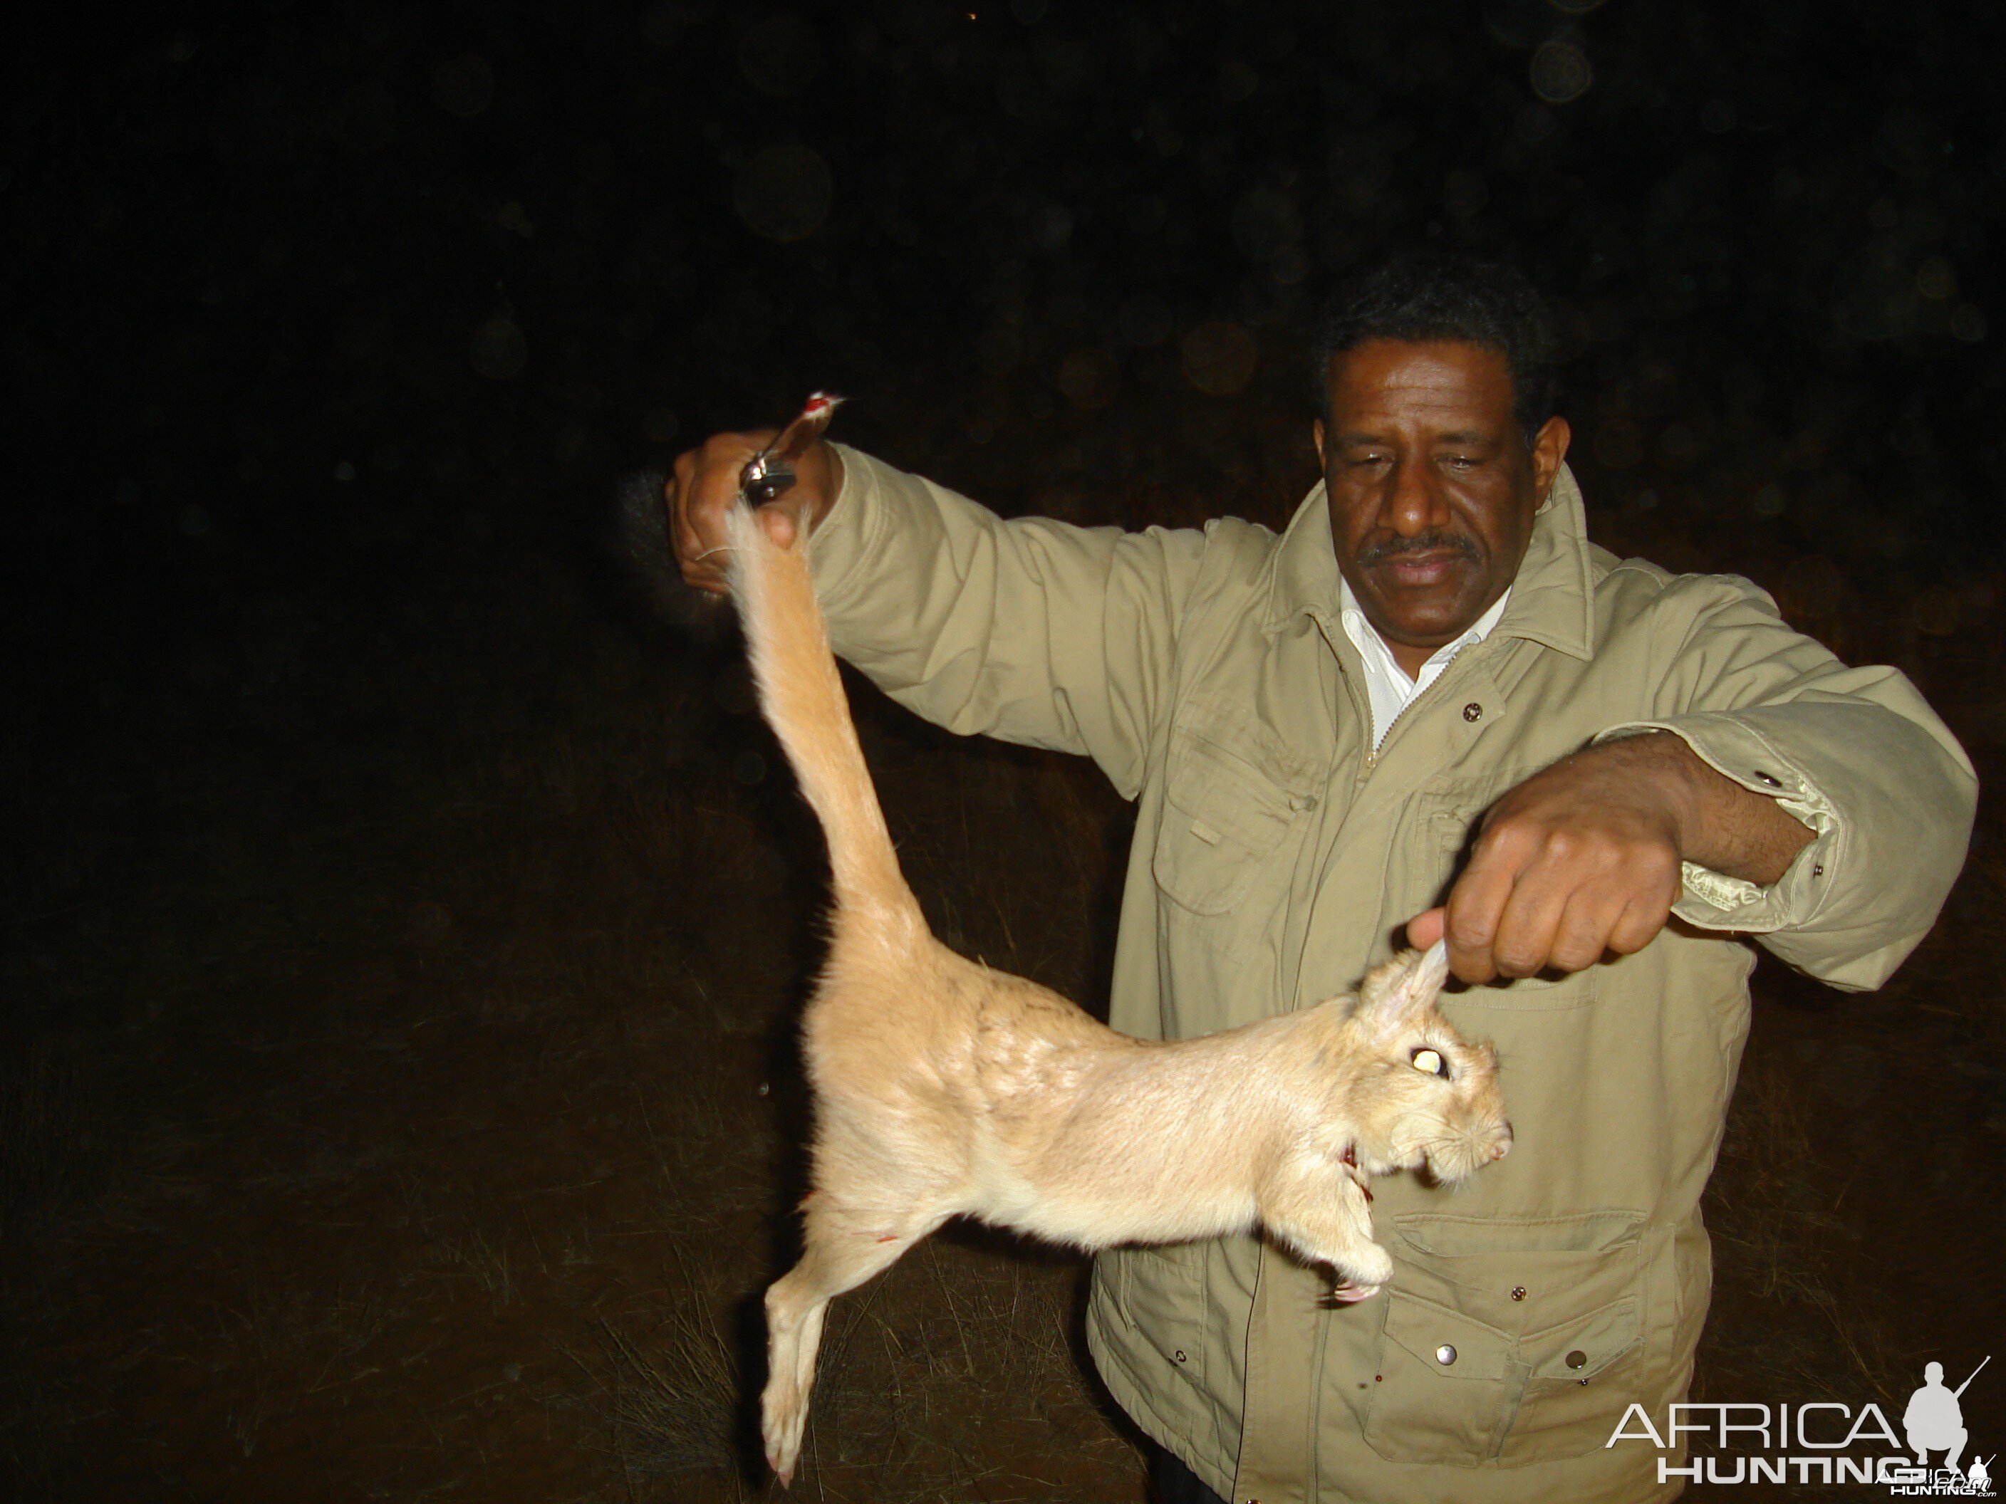
<path fill-rule="evenodd" d="M 806 1251 L 800 1263 L 766 1289 L 766 1390 L 760 1394 L 760 1438 L 766 1464 L 786 1486 L 800 1460 L 808 1426 L 808 1390 L 814 1386 L 814 1352 L 822 1342 L 828 1301 L 889 1269 L 913 1243 L 931 1233 L 943 1215 L 911 1209 L 881 1219 L 855 1209 L 810 1203 Z"/>

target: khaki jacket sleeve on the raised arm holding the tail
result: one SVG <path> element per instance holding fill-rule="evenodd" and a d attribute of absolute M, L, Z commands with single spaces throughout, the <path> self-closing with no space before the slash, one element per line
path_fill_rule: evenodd
<path fill-rule="evenodd" d="M 841 453 L 808 543 L 834 650 L 937 726 L 1083 752 L 1133 798 L 1206 535 L 1005 521 Z"/>

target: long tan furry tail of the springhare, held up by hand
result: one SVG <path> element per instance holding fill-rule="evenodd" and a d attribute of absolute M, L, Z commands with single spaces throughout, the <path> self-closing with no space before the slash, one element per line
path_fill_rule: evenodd
<path fill-rule="evenodd" d="M 744 622 L 760 706 L 822 822 L 837 906 L 923 924 L 899 870 L 808 576 L 806 527 L 780 547 L 742 501 L 730 511 L 732 600 Z"/>

